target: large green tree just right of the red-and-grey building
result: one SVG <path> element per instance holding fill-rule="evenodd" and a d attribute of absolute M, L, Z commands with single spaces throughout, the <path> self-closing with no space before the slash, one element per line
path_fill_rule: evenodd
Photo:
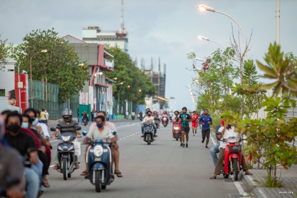
<path fill-rule="evenodd" d="M 106 72 L 107 78 L 117 77 L 117 82 L 123 82 L 122 85 L 113 87 L 114 95 L 120 92 L 120 102 L 124 100 L 145 104 L 146 96 L 154 96 L 156 87 L 150 81 L 149 77 L 136 66 L 129 54 L 123 52 L 118 47 L 105 46 L 105 50 L 114 56 L 114 71 Z M 127 86 L 130 85 L 128 89 Z M 140 91 L 141 90 L 141 91 Z"/>

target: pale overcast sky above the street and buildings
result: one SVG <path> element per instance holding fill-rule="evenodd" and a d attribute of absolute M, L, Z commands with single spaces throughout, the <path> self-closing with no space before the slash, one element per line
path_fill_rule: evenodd
<path fill-rule="evenodd" d="M 54 28 L 59 36 L 70 34 L 82 38 L 82 27 L 97 25 L 102 30 L 119 30 L 121 0 L 2 0 L 0 5 L 0 34 L 9 42 L 19 44 L 33 29 Z M 247 38 L 253 30 L 248 58 L 263 62 L 269 43 L 276 37 L 276 0 L 124 0 L 124 25 L 129 33 L 129 54 L 138 59 L 161 58 L 166 63 L 166 97 L 170 109 L 187 106 L 194 109 L 190 91 L 191 61 L 187 53 L 209 56 L 219 45 L 198 40 L 203 35 L 229 46 L 231 23 L 227 16 L 201 11 L 199 4 L 214 7 L 234 17 Z M 282 51 L 297 55 L 296 0 L 281 0 L 280 42 Z M 240 39 L 242 36 L 240 34 Z M 262 80 L 265 82 L 265 80 Z M 207 108 L 207 107 L 205 107 Z"/>

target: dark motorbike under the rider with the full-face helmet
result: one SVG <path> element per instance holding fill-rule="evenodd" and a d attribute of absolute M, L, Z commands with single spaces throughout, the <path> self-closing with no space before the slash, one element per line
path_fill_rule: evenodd
<path fill-rule="evenodd" d="M 75 131 L 80 130 L 81 127 L 76 127 Z M 54 127 L 50 128 L 51 131 L 56 131 Z M 58 155 L 58 169 L 57 171 L 63 174 L 63 179 L 71 178 L 71 173 L 75 170 L 75 146 L 73 140 L 75 140 L 75 134 L 58 134 L 58 139 L 63 142 L 58 144 L 57 155 Z"/>

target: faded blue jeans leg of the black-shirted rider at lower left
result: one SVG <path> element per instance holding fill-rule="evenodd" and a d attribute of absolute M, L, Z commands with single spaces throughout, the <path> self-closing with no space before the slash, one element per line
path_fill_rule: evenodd
<path fill-rule="evenodd" d="M 40 189 L 40 177 L 32 168 L 24 167 L 28 198 L 36 198 Z"/>

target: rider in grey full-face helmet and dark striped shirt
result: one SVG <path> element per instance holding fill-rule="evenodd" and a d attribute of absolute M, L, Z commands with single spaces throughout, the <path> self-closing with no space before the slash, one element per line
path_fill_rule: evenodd
<path fill-rule="evenodd" d="M 72 111 L 71 109 L 64 109 L 62 112 L 63 121 L 59 122 L 56 126 L 56 131 L 54 131 L 52 138 L 55 138 L 59 131 L 62 133 L 68 134 L 76 134 L 77 138 L 80 138 L 80 131 L 76 131 L 75 128 L 78 127 L 78 122 L 72 119 Z M 78 142 L 75 138 L 74 142 Z M 55 166 L 54 169 L 58 169 L 58 155 L 56 154 Z M 78 165 L 78 158 L 75 155 L 75 169 L 78 169 L 80 166 Z"/>

